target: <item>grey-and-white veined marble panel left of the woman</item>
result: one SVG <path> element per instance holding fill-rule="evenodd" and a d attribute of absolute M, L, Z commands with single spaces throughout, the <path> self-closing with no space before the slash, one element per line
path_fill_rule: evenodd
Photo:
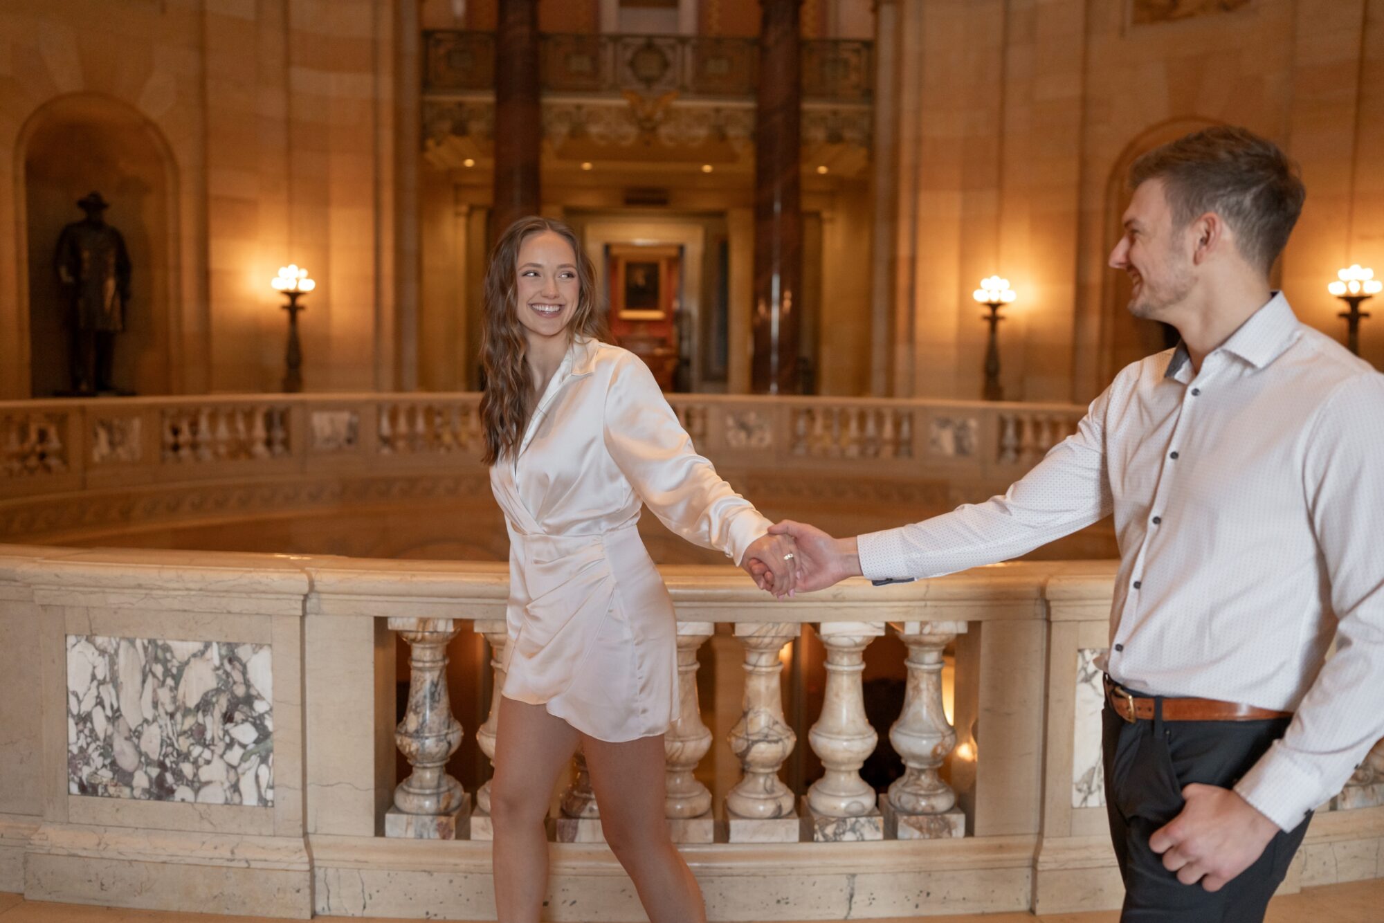
<path fill-rule="evenodd" d="M 68 635 L 71 794 L 274 804 L 268 645 Z"/>

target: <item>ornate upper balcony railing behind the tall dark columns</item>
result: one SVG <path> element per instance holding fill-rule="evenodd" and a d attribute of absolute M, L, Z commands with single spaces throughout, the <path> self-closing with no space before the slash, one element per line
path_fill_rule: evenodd
<path fill-rule="evenodd" d="M 543 90 L 551 94 L 753 98 L 757 39 L 673 35 L 551 33 L 540 39 Z M 494 87 L 495 35 L 424 32 L 424 91 L 430 95 Z M 803 97 L 869 102 L 875 89 L 873 43 L 854 39 L 803 42 Z"/>

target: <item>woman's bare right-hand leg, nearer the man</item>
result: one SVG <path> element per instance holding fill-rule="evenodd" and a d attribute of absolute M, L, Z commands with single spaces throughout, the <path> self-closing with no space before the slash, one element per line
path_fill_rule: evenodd
<path fill-rule="evenodd" d="M 663 819 L 663 735 L 626 743 L 581 738 L 601 829 L 634 879 L 650 923 L 704 923 L 706 906 Z"/>

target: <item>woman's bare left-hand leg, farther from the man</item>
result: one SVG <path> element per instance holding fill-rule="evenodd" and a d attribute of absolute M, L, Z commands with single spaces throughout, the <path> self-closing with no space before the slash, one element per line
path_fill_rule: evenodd
<path fill-rule="evenodd" d="M 547 894 L 548 834 L 544 819 L 558 774 L 580 740 L 577 731 L 543 706 L 500 700 L 495 776 L 490 782 L 490 850 L 500 923 L 538 923 Z"/>

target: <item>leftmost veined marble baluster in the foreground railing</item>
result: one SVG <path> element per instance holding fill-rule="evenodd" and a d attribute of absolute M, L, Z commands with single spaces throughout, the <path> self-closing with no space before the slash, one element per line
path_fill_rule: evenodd
<path fill-rule="evenodd" d="M 447 643 L 457 637 L 453 619 L 390 619 L 389 628 L 408 642 L 408 709 L 394 740 L 412 774 L 394 789 L 385 815 L 385 836 L 419 840 L 466 837 L 471 800 L 447 775 L 447 758 L 461 744 L 461 724 L 447 696 Z"/>

